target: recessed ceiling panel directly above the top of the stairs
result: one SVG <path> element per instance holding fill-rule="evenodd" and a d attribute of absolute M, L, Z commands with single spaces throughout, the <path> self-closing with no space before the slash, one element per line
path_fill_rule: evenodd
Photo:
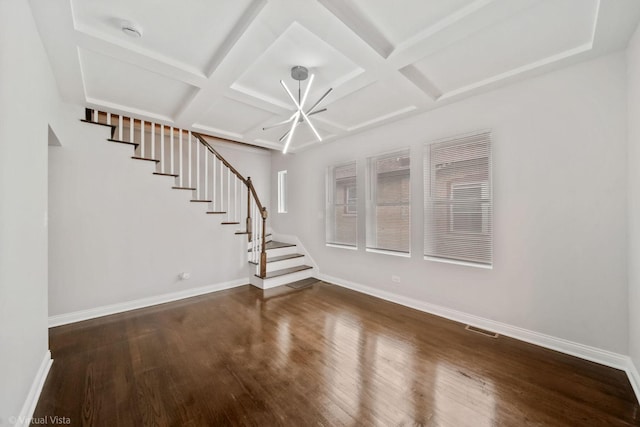
<path fill-rule="evenodd" d="M 79 50 L 87 98 L 173 117 L 196 89 L 89 50 Z"/>

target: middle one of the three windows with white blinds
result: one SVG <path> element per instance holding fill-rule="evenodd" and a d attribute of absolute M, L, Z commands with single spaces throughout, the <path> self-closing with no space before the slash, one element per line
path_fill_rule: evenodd
<path fill-rule="evenodd" d="M 409 150 L 370 157 L 367 164 L 367 250 L 411 250 Z"/>

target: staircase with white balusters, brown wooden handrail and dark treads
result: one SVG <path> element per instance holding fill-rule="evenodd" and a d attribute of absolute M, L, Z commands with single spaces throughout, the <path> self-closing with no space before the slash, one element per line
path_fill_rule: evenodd
<path fill-rule="evenodd" d="M 110 128 L 109 141 L 130 145 L 134 160 L 154 162 L 154 175 L 174 178 L 172 189 L 191 191 L 191 202 L 206 205 L 206 214 L 222 225 L 240 225 L 235 234 L 247 236 L 252 285 L 269 289 L 312 276 L 307 257 L 295 244 L 272 241 L 267 234 L 267 209 L 251 178 L 243 177 L 207 140 L 221 138 L 88 108 L 82 121 Z"/>

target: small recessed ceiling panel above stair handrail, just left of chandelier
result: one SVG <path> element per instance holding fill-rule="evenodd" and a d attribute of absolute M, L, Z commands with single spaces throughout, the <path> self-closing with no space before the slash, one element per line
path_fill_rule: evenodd
<path fill-rule="evenodd" d="M 270 117 L 272 113 L 229 98 L 220 98 L 200 118 L 196 126 L 243 134 Z"/>

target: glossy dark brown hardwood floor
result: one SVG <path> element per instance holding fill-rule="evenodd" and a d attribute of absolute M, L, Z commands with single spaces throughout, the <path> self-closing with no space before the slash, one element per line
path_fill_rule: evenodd
<path fill-rule="evenodd" d="M 51 330 L 34 414 L 89 426 L 628 426 L 621 371 L 340 287 L 244 286 Z"/>

